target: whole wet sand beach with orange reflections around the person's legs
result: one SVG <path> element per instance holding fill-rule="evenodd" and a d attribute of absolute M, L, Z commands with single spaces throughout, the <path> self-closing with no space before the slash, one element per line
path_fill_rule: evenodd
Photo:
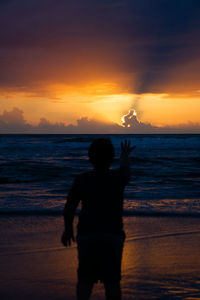
<path fill-rule="evenodd" d="M 126 217 L 123 299 L 200 299 L 200 220 Z M 77 251 L 62 217 L 1 217 L 0 299 L 75 299 Z M 95 286 L 91 299 L 104 299 Z"/>

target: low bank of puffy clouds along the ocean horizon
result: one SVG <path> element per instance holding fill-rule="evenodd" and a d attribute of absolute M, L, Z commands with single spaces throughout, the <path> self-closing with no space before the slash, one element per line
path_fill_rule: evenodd
<path fill-rule="evenodd" d="M 37 134 L 143 134 L 143 133 L 200 133 L 200 123 L 180 124 L 177 126 L 156 127 L 149 123 L 142 123 L 132 114 L 124 119 L 122 125 L 105 123 L 96 119 L 82 117 L 76 125 L 66 125 L 63 122 L 52 123 L 41 118 L 38 125 L 29 124 L 24 113 L 14 107 L 11 111 L 4 111 L 0 115 L 0 134 L 6 133 L 37 133 Z"/>

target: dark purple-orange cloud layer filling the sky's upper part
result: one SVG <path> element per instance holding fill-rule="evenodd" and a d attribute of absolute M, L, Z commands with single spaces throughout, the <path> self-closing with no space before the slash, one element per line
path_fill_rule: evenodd
<path fill-rule="evenodd" d="M 0 85 L 125 73 L 132 92 L 168 92 L 177 69 L 178 86 L 169 91 L 186 83 L 198 90 L 199 13 L 199 0 L 1 1 Z"/>

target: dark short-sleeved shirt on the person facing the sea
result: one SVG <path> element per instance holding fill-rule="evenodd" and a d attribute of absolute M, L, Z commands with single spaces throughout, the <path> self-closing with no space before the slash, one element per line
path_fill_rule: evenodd
<path fill-rule="evenodd" d="M 127 168 L 93 170 L 77 176 L 67 199 L 82 202 L 78 235 L 123 231 L 123 192 L 129 177 Z"/>

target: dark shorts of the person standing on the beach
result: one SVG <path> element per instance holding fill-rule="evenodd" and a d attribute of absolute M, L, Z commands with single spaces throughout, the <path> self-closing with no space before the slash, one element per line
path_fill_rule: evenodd
<path fill-rule="evenodd" d="M 78 279 L 104 283 L 120 281 L 124 240 L 124 232 L 79 235 Z"/>

